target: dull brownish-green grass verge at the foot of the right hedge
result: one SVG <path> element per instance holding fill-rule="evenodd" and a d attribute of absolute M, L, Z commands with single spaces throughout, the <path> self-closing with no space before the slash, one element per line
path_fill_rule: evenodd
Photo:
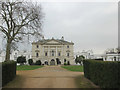
<path fill-rule="evenodd" d="M 84 75 L 77 76 L 75 78 L 75 83 L 78 88 L 99 88 L 99 86 L 96 86 L 90 80 L 85 78 Z"/>

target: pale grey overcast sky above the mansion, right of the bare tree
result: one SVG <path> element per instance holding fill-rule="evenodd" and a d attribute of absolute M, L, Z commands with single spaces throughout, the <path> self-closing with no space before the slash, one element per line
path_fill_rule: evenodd
<path fill-rule="evenodd" d="M 64 36 L 74 51 L 103 53 L 118 46 L 117 2 L 42 2 L 46 39 Z M 23 46 L 24 47 L 24 46 Z M 26 48 L 26 47 L 25 47 Z"/>

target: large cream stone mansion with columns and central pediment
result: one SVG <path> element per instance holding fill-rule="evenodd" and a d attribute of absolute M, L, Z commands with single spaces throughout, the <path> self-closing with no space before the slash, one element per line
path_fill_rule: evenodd
<path fill-rule="evenodd" d="M 42 39 L 32 43 L 32 59 L 45 65 L 74 64 L 73 42 L 61 39 Z"/>

